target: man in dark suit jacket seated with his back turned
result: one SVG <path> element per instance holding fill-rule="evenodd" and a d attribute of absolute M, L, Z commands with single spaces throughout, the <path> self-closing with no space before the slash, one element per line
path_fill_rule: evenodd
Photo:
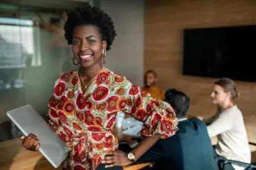
<path fill-rule="evenodd" d="M 156 162 L 156 169 L 214 170 L 211 140 L 204 122 L 188 120 L 189 97 L 175 89 L 167 90 L 165 101 L 170 103 L 179 119 L 179 131 L 167 139 L 160 139 L 136 164 Z M 136 157 L 136 155 L 135 155 Z"/>

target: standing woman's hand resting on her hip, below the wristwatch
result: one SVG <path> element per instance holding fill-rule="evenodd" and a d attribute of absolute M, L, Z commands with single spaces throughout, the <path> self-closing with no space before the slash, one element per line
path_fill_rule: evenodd
<path fill-rule="evenodd" d="M 118 150 L 114 152 L 113 155 L 106 155 L 102 164 L 107 164 L 105 167 L 108 168 L 114 166 L 128 166 L 132 164 L 132 162 L 128 159 L 127 153 Z"/>

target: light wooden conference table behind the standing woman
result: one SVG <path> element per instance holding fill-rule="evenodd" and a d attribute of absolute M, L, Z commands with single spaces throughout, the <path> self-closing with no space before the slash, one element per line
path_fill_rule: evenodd
<path fill-rule="evenodd" d="M 122 129 L 115 128 L 118 139 L 125 138 Z M 136 170 L 148 164 L 124 166 L 124 170 Z M 31 152 L 22 147 L 20 139 L 12 139 L 0 143 L 0 169 L 1 170 L 53 170 L 54 167 L 40 152 Z M 57 170 L 61 170 L 61 166 Z"/>

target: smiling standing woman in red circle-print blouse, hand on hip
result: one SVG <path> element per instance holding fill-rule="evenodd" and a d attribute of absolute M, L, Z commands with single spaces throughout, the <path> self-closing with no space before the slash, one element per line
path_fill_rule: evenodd
<path fill-rule="evenodd" d="M 116 36 L 108 14 L 86 4 L 68 13 L 64 30 L 72 45 L 73 63 L 79 64 L 79 69 L 56 81 L 46 118 L 70 149 L 64 169 L 122 169 L 138 160 L 159 138 L 175 134 L 177 118 L 170 104 L 150 97 L 102 66 Z M 118 151 L 113 134 L 118 111 L 143 122 L 141 135 L 145 138 L 129 153 Z M 21 139 L 28 150 L 40 148 L 34 134 Z"/>

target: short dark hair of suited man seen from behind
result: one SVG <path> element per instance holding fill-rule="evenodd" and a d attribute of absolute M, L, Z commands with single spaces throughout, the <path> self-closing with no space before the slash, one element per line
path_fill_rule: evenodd
<path fill-rule="evenodd" d="M 186 117 L 189 110 L 189 97 L 176 89 L 168 89 L 165 94 L 165 101 L 173 107 L 177 118 Z"/>

